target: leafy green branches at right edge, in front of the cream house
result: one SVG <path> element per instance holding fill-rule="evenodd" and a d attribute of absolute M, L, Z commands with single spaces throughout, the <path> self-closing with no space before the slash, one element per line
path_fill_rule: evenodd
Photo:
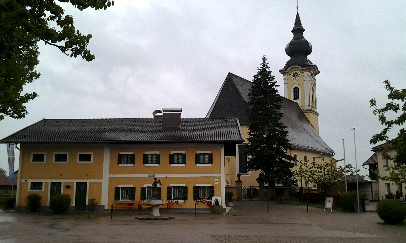
<path fill-rule="evenodd" d="M 378 120 L 385 128 L 378 134 L 371 137 L 369 141 L 371 144 L 376 144 L 385 141 L 388 144 L 392 144 L 393 149 L 396 151 L 395 156 L 388 154 L 389 149 L 385 149 L 383 152 L 383 158 L 393 160 L 395 164 L 406 164 L 406 128 L 401 127 L 397 137 L 393 140 L 389 140 L 387 133 L 393 128 L 393 126 L 402 126 L 406 123 L 406 89 L 396 90 L 389 80 L 384 81 L 385 89 L 389 92 L 388 99 L 392 100 L 388 102 L 385 107 L 377 108 L 376 100 L 373 98 L 369 101 L 371 107 L 374 108 L 372 113 L 378 115 Z M 397 104 L 397 102 L 403 102 L 403 105 Z M 387 113 L 400 113 L 395 119 L 388 119 Z M 403 174 L 403 177 L 405 174 Z"/>

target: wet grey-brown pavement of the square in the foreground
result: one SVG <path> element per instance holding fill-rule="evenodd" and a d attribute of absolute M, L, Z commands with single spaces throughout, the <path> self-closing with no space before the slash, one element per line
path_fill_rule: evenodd
<path fill-rule="evenodd" d="M 1 243 L 265 243 L 404 242 L 405 226 L 387 226 L 376 213 L 323 212 L 259 201 L 235 203 L 228 213 L 168 213 L 173 220 L 136 220 L 137 213 L 34 215 L 2 213 Z M 161 212 L 161 214 L 164 214 Z"/>

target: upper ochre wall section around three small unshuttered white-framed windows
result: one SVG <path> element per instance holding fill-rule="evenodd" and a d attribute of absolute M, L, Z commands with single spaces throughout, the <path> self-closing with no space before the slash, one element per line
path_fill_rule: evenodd
<path fill-rule="evenodd" d="M 68 153 L 67 162 L 53 162 L 54 153 Z M 78 162 L 78 153 L 93 153 L 92 163 Z M 45 162 L 31 162 L 32 153 L 45 153 Z M 102 147 L 23 147 L 21 179 L 102 179 Z M 41 172 L 41 173 L 39 173 Z"/>

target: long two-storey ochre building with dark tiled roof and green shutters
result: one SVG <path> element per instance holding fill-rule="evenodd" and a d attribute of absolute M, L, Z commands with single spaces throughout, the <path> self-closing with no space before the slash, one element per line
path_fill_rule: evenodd
<path fill-rule="evenodd" d="M 43 119 L 1 143 L 20 144 L 18 209 L 30 193 L 43 206 L 69 194 L 76 211 L 90 198 L 98 210 L 138 209 L 157 177 L 170 210 L 207 210 L 213 196 L 225 205 L 224 158 L 242 141 L 236 118 L 181 119 L 181 109 L 164 109 L 151 119 Z"/>

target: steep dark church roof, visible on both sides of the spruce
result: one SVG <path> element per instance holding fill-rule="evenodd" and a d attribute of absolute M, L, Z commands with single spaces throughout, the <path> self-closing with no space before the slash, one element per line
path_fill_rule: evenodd
<path fill-rule="evenodd" d="M 246 109 L 249 109 L 248 92 L 252 84 L 229 72 L 206 118 L 238 117 L 240 124 L 248 124 Z M 287 139 L 293 147 L 333 155 L 333 149 L 319 136 L 296 102 L 282 97 L 281 105 L 284 113 L 281 122 L 287 126 Z"/>

